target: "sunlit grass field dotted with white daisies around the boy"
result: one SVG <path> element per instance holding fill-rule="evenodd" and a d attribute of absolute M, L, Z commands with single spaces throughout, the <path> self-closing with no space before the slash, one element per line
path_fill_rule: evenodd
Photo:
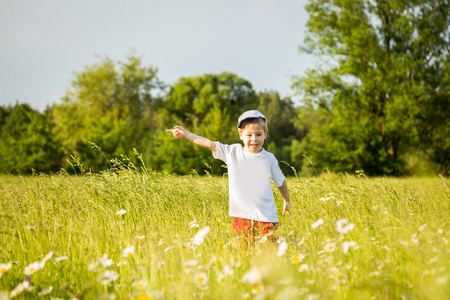
<path fill-rule="evenodd" d="M 448 179 L 288 186 L 277 242 L 245 245 L 226 178 L 0 177 L 0 299 L 450 299 Z"/>

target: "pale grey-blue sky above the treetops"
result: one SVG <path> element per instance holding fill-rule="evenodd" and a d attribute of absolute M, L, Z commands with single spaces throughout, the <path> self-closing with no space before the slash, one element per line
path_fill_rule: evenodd
<path fill-rule="evenodd" d="M 59 103 L 87 65 L 131 51 L 158 78 L 232 72 L 294 96 L 306 0 L 0 0 L 0 105 Z"/>

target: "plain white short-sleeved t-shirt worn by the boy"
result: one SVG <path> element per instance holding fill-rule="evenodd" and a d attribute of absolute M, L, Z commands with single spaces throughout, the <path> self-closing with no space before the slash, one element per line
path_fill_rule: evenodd
<path fill-rule="evenodd" d="M 241 144 L 215 142 L 217 154 L 228 167 L 230 216 L 262 222 L 278 222 L 272 185 L 280 187 L 286 177 L 275 156 L 262 149 L 258 153 L 245 150 Z"/>

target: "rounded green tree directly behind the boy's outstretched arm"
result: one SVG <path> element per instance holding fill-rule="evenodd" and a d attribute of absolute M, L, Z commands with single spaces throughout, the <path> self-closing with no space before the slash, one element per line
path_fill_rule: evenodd
<path fill-rule="evenodd" d="M 252 85 L 231 73 L 205 74 L 183 77 L 171 88 L 165 103 L 163 123 L 166 128 L 181 125 L 187 130 L 222 143 L 237 143 L 237 119 L 248 109 L 258 104 Z M 165 129 L 165 128 L 164 128 Z M 152 149 L 150 165 L 169 173 L 188 174 L 192 170 L 203 173 L 211 166 L 215 174 L 224 172 L 222 162 L 215 160 L 207 149 L 187 141 L 175 141 L 159 130 Z M 208 165 L 208 166 L 207 166 Z"/>

